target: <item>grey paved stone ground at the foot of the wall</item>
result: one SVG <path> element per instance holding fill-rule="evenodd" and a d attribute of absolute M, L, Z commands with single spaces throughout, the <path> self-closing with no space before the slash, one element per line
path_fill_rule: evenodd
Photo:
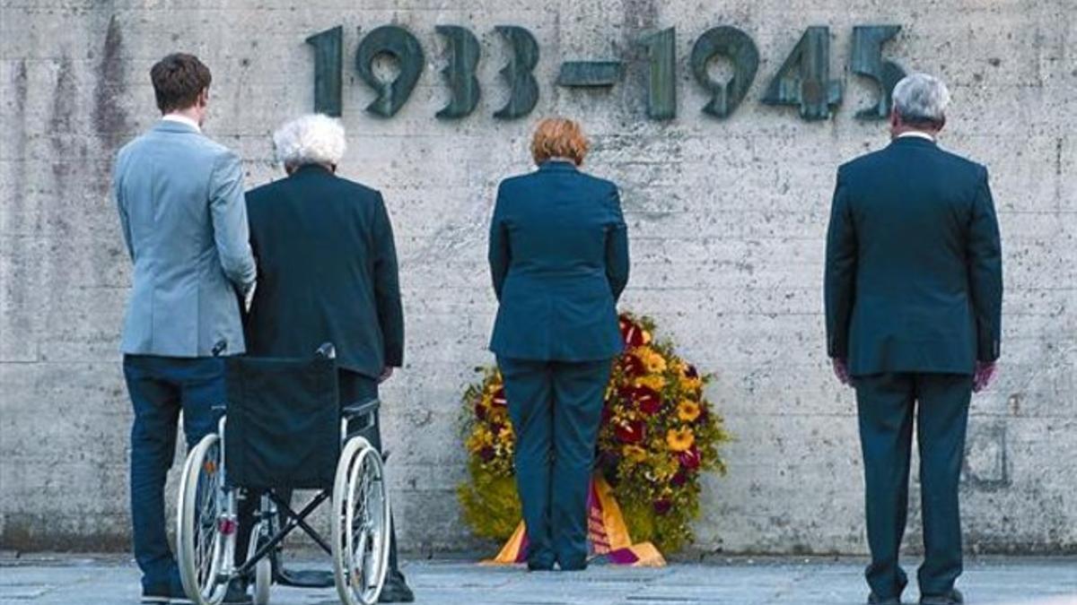
<path fill-rule="evenodd" d="M 304 562 L 298 566 L 310 566 Z M 863 603 L 859 560 L 722 559 L 661 569 L 592 566 L 579 574 L 528 574 L 464 560 L 412 561 L 418 603 L 852 605 Z M 1077 604 L 1077 559 L 978 559 L 961 580 L 971 604 Z M 906 600 L 912 603 L 915 591 Z M 85 555 L 0 558 L 0 604 L 113 605 L 138 602 L 127 560 Z M 331 590 L 275 587 L 276 605 L 330 605 Z"/>

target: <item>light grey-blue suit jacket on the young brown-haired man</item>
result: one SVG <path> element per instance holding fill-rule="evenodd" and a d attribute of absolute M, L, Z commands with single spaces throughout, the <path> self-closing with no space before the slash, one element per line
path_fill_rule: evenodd
<path fill-rule="evenodd" d="M 254 284 L 239 157 L 192 126 L 162 121 L 124 145 L 113 193 L 135 278 L 126 354 L 246 351 L 237 292 Z"/>

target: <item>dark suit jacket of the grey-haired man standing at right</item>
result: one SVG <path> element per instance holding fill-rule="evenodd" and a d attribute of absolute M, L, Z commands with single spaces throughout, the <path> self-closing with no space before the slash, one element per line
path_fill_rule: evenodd
<path fill-rule="evenodd" d="M 988 170 L 904 137 L 838 170 L 827 352 L 850 372 L 973 374 L 998 357 L 1003 267 Z"/>

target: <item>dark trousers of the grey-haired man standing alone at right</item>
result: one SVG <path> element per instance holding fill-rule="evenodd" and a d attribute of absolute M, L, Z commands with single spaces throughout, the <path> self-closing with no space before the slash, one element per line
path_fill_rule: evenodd
<path fill-rule="evenodd" d="M 879 597 L 897 596 L 907 583 L 898 564 L 909 503 L 909 459 L 915 413 L 920 449 L 924 563 L 921 594 L 947 594 L 962 572 L 957 483 L 973 377 L 954 374 L 857 376 L 868 545 L 866 576 Z"/>

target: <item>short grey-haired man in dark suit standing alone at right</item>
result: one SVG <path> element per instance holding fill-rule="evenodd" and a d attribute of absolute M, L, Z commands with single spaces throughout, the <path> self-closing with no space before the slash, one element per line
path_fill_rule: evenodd
<path fill-rule="evenodd" d="M 913 419 L 920 602 L 962 603 L 957 481 L 971 393 L 999 353 L 1002 253 L 988 170 L 939 149 L 950 94 L 914 73 L 893 93 L 885 149 L 838 169 L 826 245 L 827 352 L 856 389 L 869 603 L 897 605 Z"/>

